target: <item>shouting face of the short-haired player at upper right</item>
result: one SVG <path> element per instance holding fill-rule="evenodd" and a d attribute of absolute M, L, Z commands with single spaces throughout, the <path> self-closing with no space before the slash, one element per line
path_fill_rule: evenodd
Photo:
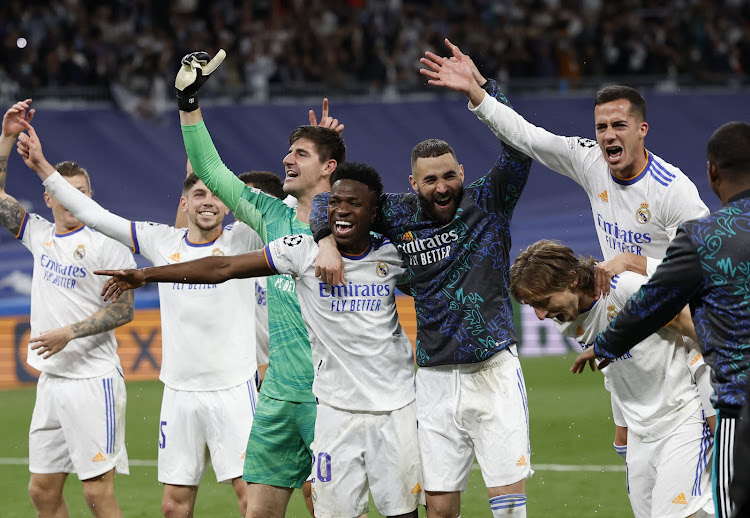
<path fill-rule="evenodd" d="M 612 174 L 623 179 L 635 176 L 646 165 L 644 138 L 648 124 L 630 108 L 626 99 L 594 108 L 596 141 Z"/>

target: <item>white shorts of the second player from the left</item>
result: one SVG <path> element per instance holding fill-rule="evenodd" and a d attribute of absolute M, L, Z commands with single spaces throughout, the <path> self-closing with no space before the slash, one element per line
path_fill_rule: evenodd
<path fill-rule="evenodd" d="M 217 481 L 241 477 L 257 401 L 254 380 L 207 392 L 165 386 L 159 419 L 159 482 L 197 486 L 209 459 Z"/>

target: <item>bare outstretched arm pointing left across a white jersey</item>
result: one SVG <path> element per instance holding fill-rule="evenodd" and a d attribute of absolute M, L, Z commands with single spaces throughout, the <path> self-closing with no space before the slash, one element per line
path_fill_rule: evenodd
<path fill-rule="evenodd" d="M 117 300 L 127 290 L 140 288 L 149 282 L 180 284 L 218 284 L 230 279 L 275 275 L 266 260 L 265 250 L 233 256 L 211 256 L 195 261 L 153 266 L 139 270 L 98 270 L 97 275 L 112 278 L 102 289 L 104 300 Z"/>

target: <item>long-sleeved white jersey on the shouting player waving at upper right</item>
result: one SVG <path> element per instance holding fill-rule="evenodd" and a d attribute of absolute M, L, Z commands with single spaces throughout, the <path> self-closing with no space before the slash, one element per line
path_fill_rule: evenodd
<path fill-rule="evenodd" d="M 611 174 L 595 140 L 550 133 L 489 95 L 469 108 L 500 140 L 583 187 L 604 259 L 622 252 L 643 255 L 652 259 L 652 274 L 677 227 L 708 214 L 693 182 L 653 153 L 647 152 L 642 171 L 622 180 Z"/>

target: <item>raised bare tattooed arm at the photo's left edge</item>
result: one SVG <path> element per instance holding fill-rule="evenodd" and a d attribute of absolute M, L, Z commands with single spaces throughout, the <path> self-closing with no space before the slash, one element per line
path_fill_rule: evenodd
<path fill-rule="evenodd" d="M 34 110 L 29 109 L 30 105 L 31 99 L 26 99 L 11 106 L 3 116 L 0 133 L 0 223 L 14 236 L 18 236 L 21 230 L 26 211 L 13 196 L 5 192 L 5 180 L 8 175 L 8 157 L 13 144 L 34 117 Z"/>

